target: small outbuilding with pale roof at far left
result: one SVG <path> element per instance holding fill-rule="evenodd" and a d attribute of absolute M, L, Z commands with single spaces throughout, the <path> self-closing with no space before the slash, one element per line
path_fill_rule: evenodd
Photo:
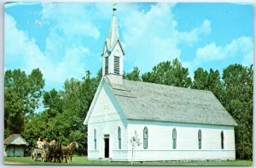
<path fill-rule="evenodd" d="M 12 134 L 4 139 L 4 156 L 24 156 L 24 151 L 28 143 L 20 134 Z"/>

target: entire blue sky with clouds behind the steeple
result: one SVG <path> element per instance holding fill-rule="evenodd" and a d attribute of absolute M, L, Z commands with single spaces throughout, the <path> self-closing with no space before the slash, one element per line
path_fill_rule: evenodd
<path fill-rule="evenodd" d="M 102 66 L 112 3 L 7 3 L 5 70 L 39 68 L 45 90 Z M 198 67 L 220 70 L 253 64 L 253 5 L 241 3 L 118 3 L 125 71 L 146 72 L 179 59 L 190 76 Z"/>

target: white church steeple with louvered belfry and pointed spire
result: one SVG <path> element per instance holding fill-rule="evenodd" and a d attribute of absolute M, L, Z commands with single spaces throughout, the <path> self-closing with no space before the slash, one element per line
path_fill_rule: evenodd
<path fill-rule="evenodd" d="M 113 5 L 109 34 L 102 51 L 102 76 L 107 76 L 111 83 L 123 84 L 124 55 L 124 50 L 119 41 L 116 7 Z"/>

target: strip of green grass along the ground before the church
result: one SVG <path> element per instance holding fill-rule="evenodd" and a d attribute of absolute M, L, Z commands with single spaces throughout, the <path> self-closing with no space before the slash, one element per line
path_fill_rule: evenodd
<path fill-rule="evenodd" d="M 73 156 L 73 163 L 54 163 L 41 162 L 41 160 L 32 161 L 30 157 L 4 157 L 4 164 L 11 165 L 131 165 L 130 162 L 110 162 L 87 160 L 84 156 Z M 253 165 L 251 160 L 233 160 L 233 161 L 168 161 L 168 162 L 136 162 L 134 165 Z"/>

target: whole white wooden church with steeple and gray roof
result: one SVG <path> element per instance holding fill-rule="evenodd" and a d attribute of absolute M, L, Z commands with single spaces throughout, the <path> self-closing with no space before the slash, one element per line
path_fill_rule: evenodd
<path fill-rule="evenodd" d="M 102 81 L 84 120 L 88 160 L 235 160 L 236 121 L 210 91 L 123 79 L 116 8 L 102 52 Z"/>

